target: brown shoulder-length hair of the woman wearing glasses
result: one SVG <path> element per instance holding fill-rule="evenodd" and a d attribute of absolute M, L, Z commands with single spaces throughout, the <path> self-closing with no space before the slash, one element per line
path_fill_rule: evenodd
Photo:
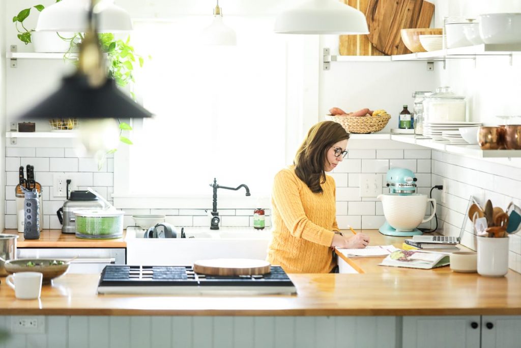
<path fill-rule="evenodd" d="M 314 193 L 321 193 L 320 184 L 326 182 L 324 171 L 327 151 L 335 143 L 349 139 L 349 133 L 338 123 L 319 122 L 307 133 L 306 139 L 296 152 L 293 163 L 296 175 Z"/>

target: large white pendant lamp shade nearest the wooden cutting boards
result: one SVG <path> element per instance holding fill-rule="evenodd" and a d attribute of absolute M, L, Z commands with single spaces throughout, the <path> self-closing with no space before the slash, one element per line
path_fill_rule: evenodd
<path fill-rule="evenodd" d="M 275 21 L 280 34 L 368 34 L 365 15 L 338 0 L 309 0 L 283 11 Z"/>

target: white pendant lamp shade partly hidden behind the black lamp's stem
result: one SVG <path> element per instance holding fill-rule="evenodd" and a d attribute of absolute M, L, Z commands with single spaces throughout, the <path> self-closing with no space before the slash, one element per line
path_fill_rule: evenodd
<path fill-rule="evenodd" d="M 126 10 L 114 5 L 112 0 L 95 2 L 98 16 L 98 32 L 131 31 L 132 20 Z M 61 0 L 45 7 L 36 23 L 36 31 L 85 32 L 89 26 L 89 0 Z"/>

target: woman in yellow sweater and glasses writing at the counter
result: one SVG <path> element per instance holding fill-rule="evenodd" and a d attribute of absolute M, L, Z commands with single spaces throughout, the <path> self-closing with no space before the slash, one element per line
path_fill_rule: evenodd
<path fill-rule="evenodd" d="M 349 133 L 332 121 L 307 134 L 294 164 L 275 176 L 271 195 L 272 241 L 268 261 L 288 273 L 329 273 L 336 266 L 332 247 L 364 248 L 363 233 L 343 236 L 336 219 L 334 179 L 326 175 L 347 154 Z"/>

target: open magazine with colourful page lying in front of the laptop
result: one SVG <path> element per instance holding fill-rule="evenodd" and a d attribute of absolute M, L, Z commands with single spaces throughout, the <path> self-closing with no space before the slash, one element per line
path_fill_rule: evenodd
<path fill-rule="evenodd" d="M 380 266 L 431 269 L 449 265 L 450 254 L 417 250 L 396 250 L 384 258 Z"/>

